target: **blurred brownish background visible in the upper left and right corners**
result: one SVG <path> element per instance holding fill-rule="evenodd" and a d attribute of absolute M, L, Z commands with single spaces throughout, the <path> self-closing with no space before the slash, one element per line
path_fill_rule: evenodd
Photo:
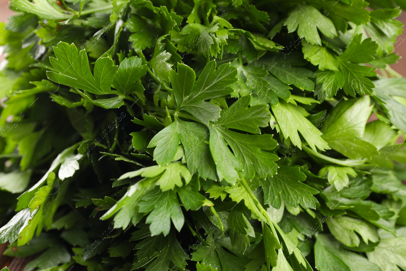
<path fill-rule="evenodd" d="M 7 17 L 13 14 L 13 11 L 8 8 L 9 2 L 10 0 L 0 0 L 0 22 L 6 22 Z M 396 19 L 400 20 L 403 24 L 406 24 L 406 12 L 402 11 L 402 14 Z M 391 65 L 391 67 L 396 72 L 406 77 L 406 42 L 402 42 L 404 40 L 406 40 L 405 30 L 403 31 L 402 35 L 397 38 L 396 44 L 398 45 L 395 45 L 396 48 L 394 51 L 399 53 L 402 58 L 399 59 L 398 63 Z M 0 56 L 0 61 L 1 60 L 2 56 Z"/>

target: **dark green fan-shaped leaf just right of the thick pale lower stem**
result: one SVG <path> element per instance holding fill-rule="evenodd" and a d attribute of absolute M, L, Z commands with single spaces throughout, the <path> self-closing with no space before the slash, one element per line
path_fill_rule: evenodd
<path fill-rule="evenodd" d="M 283 196 L 294 207 L 300 204 L 304 209 L 315 209 L 317 199 L 313 195 L 319 191 L 302 183 L 304 180 L 306 175 L 299 167 L 280 166 L 278 173 L 263 180 L 264 203 L 279 209 Z"/>

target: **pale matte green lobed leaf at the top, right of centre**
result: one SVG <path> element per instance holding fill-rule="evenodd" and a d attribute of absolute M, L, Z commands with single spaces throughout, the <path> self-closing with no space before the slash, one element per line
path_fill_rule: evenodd
<path fill-rule="evenodd" d="M 287 26 L 289 33 L 298 29 L 298 36 L 306 39 L 311 44 L 322 45 L 317 29 L 326 37 L 333 38 L 337 36 L 337 31 L 330 18 L 323 16 L 315 7 L 309 5 L 297 5 L 289 13 L 289 17 L 283 25 Z"/>

